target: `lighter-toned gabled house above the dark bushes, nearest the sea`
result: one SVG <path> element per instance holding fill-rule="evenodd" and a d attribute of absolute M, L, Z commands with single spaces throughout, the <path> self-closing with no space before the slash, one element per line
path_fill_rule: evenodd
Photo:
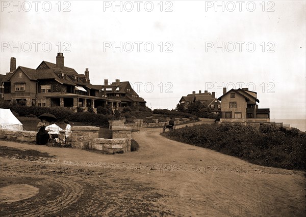
<path fill-rule="evenodd" d="M 270 122 L 270 109 L 259 109 L 257 92 L 248 88 L 231 89 L 218 98 L 221 101 L 221 122 L 263 123 Z"/>

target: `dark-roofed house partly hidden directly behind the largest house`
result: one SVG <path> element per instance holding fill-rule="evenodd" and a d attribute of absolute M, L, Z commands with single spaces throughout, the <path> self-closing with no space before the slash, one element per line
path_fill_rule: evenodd
<path fill-rule="evenodd" d="M 111 84 L 108 83 L 108 79 L 104 80 L 104 85 L 95 85 L 98 86 L 103 96 L 106 96 L 109 99 L 120 100 L 119 107 L 126 106 L 143 106 L 145 107 L 146 101 L 143 98 L 139 97 L 135 90 L 132 88 L 129 81 L 121 81 L 116 79 L 115 82 Z"/>

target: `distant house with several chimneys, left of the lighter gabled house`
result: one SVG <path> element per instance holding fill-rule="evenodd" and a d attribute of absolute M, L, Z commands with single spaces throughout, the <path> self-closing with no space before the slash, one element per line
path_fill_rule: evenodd
<path fill-rule="evenodd" d="M 205 90 L 203 93 L 199 90 L 198 94 L 192 91 L 192 94 L 188 94 L 186 97 L 182 97 L 180 104 L 187 109 L 188 105 L 194 102 L 200 102 L 208 106 L 212 113 L 219 114 L 221 110 L 221 103 L 215 97 L 215 92 L 208 92 Z"/>

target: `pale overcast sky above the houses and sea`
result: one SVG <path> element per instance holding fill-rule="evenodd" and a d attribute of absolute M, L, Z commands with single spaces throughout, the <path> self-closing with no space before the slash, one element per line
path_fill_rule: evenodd
<path fill-rule="evenodd" d="M 92 84 L 130 81 L 152 109 L 175 108 L 192 91 L 220 97 L 222 87 L 248 86 L 272 119 L 305 118 L 305 1 L 116 5 L 1 1 L 1 74 L 10 57 L 36 69 L 63 52 L 65 66 L 89 68 Z"/>

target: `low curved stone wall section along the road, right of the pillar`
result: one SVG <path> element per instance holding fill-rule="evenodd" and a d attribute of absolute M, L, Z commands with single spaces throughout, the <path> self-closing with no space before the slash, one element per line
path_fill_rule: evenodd
<path fill-rule="evenodd" d="M 129 139 L 91 139 L 89 141 L 89 148 L 100 150 L 108 154 L 124 153 L 131 151 L 131 144 Z"/>

